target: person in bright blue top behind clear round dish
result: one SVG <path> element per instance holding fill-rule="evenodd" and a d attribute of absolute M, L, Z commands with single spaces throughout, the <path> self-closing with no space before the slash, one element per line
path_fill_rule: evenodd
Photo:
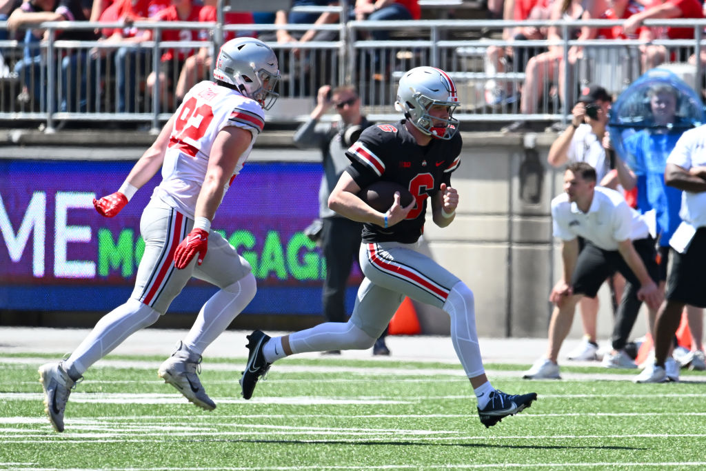
<path fill-rule="evenodd" d="M 678 188 L 667 186 L 664 182 L 666 160 L 674 149 L 682 133 L 690 123 L 677 117 L 679 93 L 671 85 L 659 83 L 647 91 L 652 118 L 647 127 L 628 137 L 624 142 L 626 155 L 623 159 L 635 177 L 624 181 L 626 189 L 638 188 L 638 211 L 649 213 L 654 210 L 655 232 L 659 244 L 659 287 L 664 290 L 669 265 L 669 241 L 681 224 L 679 209 L 682 192 Z M 692 357 L 698 369 L 706 369 L 702 345 L 703 311 L 688 306 L 687 318 L 690 330 L 695 334 Z M 654 333 L 654 317 L 650 317 L 650 332 Z M 669 359 L 667 376 L 676 380 L 678 366 L 674 359 Z"/>

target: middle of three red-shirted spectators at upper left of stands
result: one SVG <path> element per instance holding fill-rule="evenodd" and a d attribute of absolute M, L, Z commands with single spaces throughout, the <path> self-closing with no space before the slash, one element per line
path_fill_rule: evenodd
<path fill-rule="evenodd" d="M 157 13 L 153 18 L 154 21 L 189 21 L 196 23 L 201 14 L 201 5 L 197 5 L 193 0 L 172 0 L 172 5 Z M 153 33 L 147 31 L 146 37 L 152 40 Z M 162 41 L 181 41 L 191 42 L 203 40 L 204 33 L 198 29 L 181 29 L 181 30 L 162 30 Z M 177 83 L 179 71 L 184 67 L 186 58 L 193 55 L 196 51 L 191 46 L 170 48 L 164 51 L 160 58 L 160 70 L 152 71 L 147 77 L 147 93 L 152 96 L 152 90 L 155 88 L 155 83 L 160 83 L 160 104 L 162 111 L 174 109 L 174 100 L 169 100 L 173 97 L 172 88 Z"/>

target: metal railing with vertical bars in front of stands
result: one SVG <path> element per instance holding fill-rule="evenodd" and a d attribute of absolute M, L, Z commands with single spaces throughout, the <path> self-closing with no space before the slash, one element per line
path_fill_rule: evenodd
<path fill-rule="evenodd" d="M 570 30 L 587 25 L 605 28 L 619 21 L 556 21 L 549 23 L 569 37 Z M 102 123 L 141 122 L 158 129 L 178 105 L 175 87 L 182 62 L 160 61 L 168 49 L 217 51 L 217 42 L 161 40 L 164 30 L 210 30 L 213 37 L 227 32 L 256 31 L 275 50 L 280 60 L 279 109 L 268 119 L 303 119 L 313 107 L 316 90 L 325 83 L 352 83 L 363 100 L 369 117 L 397 119 L 393 102 L 397 81 L 409 68 L 430 65 L 448 71 L 455 80 L 462 107 L 461 121 L 511 121 L 522 114 L 527 120 L 566 120 L 579 86 L 587 82 L 604 85 L 618 94 L 645 70 L 643 51 L 658 47 L 666 62 L 692 60 L 696 88 L 702 88 L 704 63 L 693 60 L 705 56 L 703 31 L 706 20 L 647 20 L 651 27 L 686 27 L 695 40 L 591 40 L 578 42 L 505 41 L 481 37 L 483 28 L 501 30 L 515 26 L 546 26 L 544 21 L 419 20 L 349 21 L 332 25 L 287 25 L 287 30 L 328 31 L 333 40 L 306 43 L 277 43 L 275 25 L 220 23 L 134 23 L 135 28 L 152 30 L 153 39 L 138 44 L 102 41 L 57 40 L 58 30 L 122 28 L 122 23 L 42 23 L 46 40 L 24 44 L 19 40 L 0 41 L 6 68 L 0 70 L 0 119 L 43 121 L 52 131 L 57 121 L 84 120 Z M 0 23 L 0 30 L 6 28 Z M 376 30 L 388 33 L 388 40 L 373 40 Z M 540 83 L 528 80 L 527 58 L 547 46 L 563 47 L 562 56 L 542 63 L 545 77 Z M 582 48 L 577 61 L 570 61 L 570 47 Z M 503 59 L 494 70 L 487 64 L 489 47 L 500 49 Z M 537 59 L 534 59 L 537 61 Z M 19 65 L 18 65 L 19 64 Z M 210 64 L 194 68 L 190 81 L 210 78 Z M 536 65 L 536 64 L 535 64 Z M 505 70 L 499 70 L 498 68 Z M 535 73 L 536 73 L 535 68 Z M 161 72 L 161 74 L 160 74 Z M 157 78 L 156 80 L 150 80 Z M 161 79 L 160 79 L 161 77 Z M 126 85 L 126 81 L 129 83 Z M 530 85 L 527 85 L 527 84 Z M 149 85 L 152 85 L 151 87 Z M 489 85 L 490 84 L 490 85 Z M 493 90 L 491 90 L 491 88 Z M 500 90 L 500 99 L 488 100 L 489 90 Z M 521 106 L 520 91 L 532 96 L 530 106 Z M 529 95 L 532 93 L 532 95 Z M 525 99 L 527 101 L 527 99 Z M 306 102 L 310 107 L 302 107 Z M 288 103 L 293 109 L 287 112 Z M 528 109 L 530 108 L 530 109 Z"/>

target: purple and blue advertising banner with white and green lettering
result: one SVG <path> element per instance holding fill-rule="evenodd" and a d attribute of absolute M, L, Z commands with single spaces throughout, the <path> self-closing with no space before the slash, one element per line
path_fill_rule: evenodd
<path fill-rule="evenodd" d="M 0 160 L 0 309 L 109 311 L 130 296 L 140 215 L 160 174 L 116 217 L 92 199 L 116 191 L 133 165 Z M 245 313 L 321 313 L 325 260 L 302 232 L 318 215 L 320 181 L 318 163 L 248 162 L 226 193 L 212 227 L 253 267 L 258 293 Z M 195 313 L 216 290 L 191 280 L 169 312 Z"/>

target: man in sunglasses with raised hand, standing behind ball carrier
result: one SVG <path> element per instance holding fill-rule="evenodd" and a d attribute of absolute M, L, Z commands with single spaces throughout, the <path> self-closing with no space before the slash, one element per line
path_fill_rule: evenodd
<path fill-rule="evenodd" d="M 319 121 L 331 107 L 339 119 Z M 321 246 L 326 258 L 326 278 L 321 302 L 323 316 L 328 322 L 346 322 L 346 284 L 353 261 L 357 260 L 363 225 L 342 217 L 328 208 L 328 196 L 349 165 L 346 150 L 358 140 L 360 133 L 372 123 L 360 112 L 360 98 L 351 85 L 332 88 L 323 85 L 316 95 L 316 107 L 309 119 L 294 133 L 294 144 L 299 148 L 319 148 L 323 163 L 323 177 L 318 191 L 319 219 L 305 229 L 309 239 Z M 340 350 L 328 353 L 339 354 Z M 385 345 L 385 333 L 373 347 L 373 354 L 390 354 Z"/>

